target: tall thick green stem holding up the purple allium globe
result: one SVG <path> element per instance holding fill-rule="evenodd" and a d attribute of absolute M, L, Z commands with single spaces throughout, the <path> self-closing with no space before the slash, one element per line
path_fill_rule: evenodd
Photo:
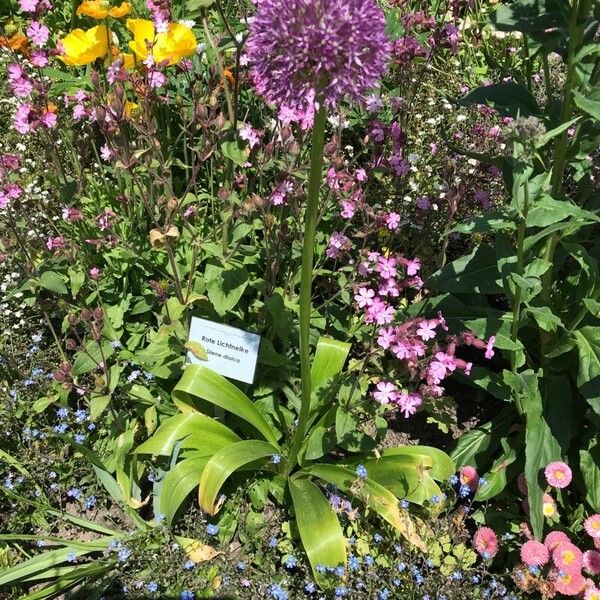
<path fill-rule="evenodd" d="M 323 175 L 323 150 L 325 148 L 325 123 L 327 112 L 321 107 L 315 114 L 310 154 L 310 172 L 308 175 L 308 199 L 304 217 L 304 241 L 302 246 L 302 271 L 300 276 L 300 378 L 302 381 L 302 403 L 298 417 L 298 427 L 292 440 L 288 455 L 288 474 L 296 466 L 300 445 L 306 433 L 310 412 L 311 378 L 310 378 L 310 314 L 312 312 L 312 279 L 315 254 L 315 237 L 317 234 L 317 215 L 319 209 L 319 192 Z"/>

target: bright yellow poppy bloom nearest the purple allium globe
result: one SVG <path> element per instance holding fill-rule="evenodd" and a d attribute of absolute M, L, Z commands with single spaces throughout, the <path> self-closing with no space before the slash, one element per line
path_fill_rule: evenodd
<path fill-rule="evenodd" d="M 198 42 L 193 31 L 181 23 L 169 23 L 165 33 L 156 33 L 154 23 L 146 19 L 128 19 L 127 29 L 133 33 L 129 47 L 140 60 L 148 57 L 148 43 L 152 45 L 150 54 L 157 63 L 165 60 L 170 65 L 196 51 Z"/>

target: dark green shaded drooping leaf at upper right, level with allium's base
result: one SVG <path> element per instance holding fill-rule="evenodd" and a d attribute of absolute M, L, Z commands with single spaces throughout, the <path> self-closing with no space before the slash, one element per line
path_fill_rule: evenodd
<path fill-rule="evenodd" d="M 478 87 L 461 98 L 461 106 L 486 104 L 503 117 L 538 115 L 541 109 L 533 94 L 520 83 L 504 81 Z"/>

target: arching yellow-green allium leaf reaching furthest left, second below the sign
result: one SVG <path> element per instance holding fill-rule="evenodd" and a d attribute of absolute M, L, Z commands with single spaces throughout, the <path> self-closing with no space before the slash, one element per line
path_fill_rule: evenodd
<path fill-rule="evenodd" d="M 219 421 L 200 413 L 186 413 L 164 421 L 154 435 L 135 451 L 137 454 L 171 456 L 175 444 L 189 436 L 200 436 L 209 450 L 240 441 L 231 429 Z"/>

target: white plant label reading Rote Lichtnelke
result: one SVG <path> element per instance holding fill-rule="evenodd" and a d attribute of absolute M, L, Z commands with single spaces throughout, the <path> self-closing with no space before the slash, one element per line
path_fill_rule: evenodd
<path fill-rule="evenodd" d="M 260 336 L 230 325 L 192 317 L 190 342 L 198 342 L 206 350 L 208 360 L 188 352 L 191 363 L 204 365 L 237 381 L 252 383 L 256 371 Z"/>

